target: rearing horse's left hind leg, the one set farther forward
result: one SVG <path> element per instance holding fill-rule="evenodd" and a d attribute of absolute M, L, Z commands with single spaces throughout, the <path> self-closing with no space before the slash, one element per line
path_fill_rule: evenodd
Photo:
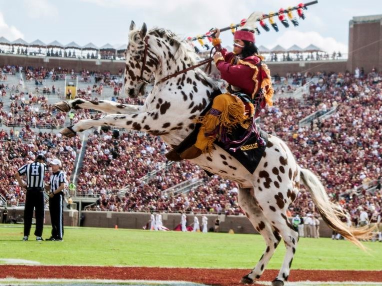
<path fill-rule="evenodd" d="M 245 275 L 241 279 L 241 283 L 252 284 L 253 281 L 255 279 L 259 279 L 261 274 L 264 272 L 264 269 L 272 257 L 281 238 L 276 232 L 274 232 L 269 221 L 264 217 L 261 207 L 258 205 L 258 202 L 253 196 L 252 188 L 240 188 L 238 203 L 256 231 L 262 235 L 266 244 L 266 249 L 256 266 L 249 274 Z"/>

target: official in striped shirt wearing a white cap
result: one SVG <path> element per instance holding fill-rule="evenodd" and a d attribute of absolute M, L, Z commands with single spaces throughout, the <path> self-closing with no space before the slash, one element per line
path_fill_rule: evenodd
<path fill-rule="evenodd" d="M 66 185 L 65 173 L 61 171 L 61 161 L 50 162 L 52 174 L 45 190 L 49 193 L 49 212 L 51 221 L 51 237 L 47 241 L 62 241 L 63 238 L 63 189 Z"/>

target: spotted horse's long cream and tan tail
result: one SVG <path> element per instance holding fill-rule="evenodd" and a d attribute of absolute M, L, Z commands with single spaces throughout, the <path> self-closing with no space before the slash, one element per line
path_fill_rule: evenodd
<path fill-rule="evenodd" d="M 318 209 L 323 221 L 336 233 L 346 238 L 351 243 L 355 244 L 362 250 L 365 247 L 359 242 L 359 240 L 370 239 L 372 237 L 372 228 L 367 226 L 361 228 L 348 227 L 341 222 L 339 217 L 345 216 L 345 212 L 341 208 L 329 201 L 329 197 L 326 194 L 325 188 L 319 181 L 317 176 L 307 169 L 300 169 L 301 183 L 310 192 L 313 202 Z"/>

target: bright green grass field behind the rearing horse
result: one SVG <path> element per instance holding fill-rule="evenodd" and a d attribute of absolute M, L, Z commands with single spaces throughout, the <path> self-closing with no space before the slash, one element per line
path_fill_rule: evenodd
<path fill-rule="evenodd" d="M 22 259 L 43 265 L 250 269 L 265 249 L 259 235 L 67 227 L 63 242 L 36 242 L 33 235 L 22 242 L 22 231 L 22 226 L 0 225 L 0 264 Z M 49 236 L 45 226 L 43 237 Z M 381 270 L 382 243 L 365 246 L 368 253 L 347 241 L 301 238 L 292 268 Z M 281 242 L 267 269 L 279 269 L 284 253 Z"/>

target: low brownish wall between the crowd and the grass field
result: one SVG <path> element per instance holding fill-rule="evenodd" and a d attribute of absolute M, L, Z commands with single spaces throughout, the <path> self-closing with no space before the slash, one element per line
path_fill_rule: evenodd
<path fill-rule="evenodd" d="M 2 209 L 0 209 L 2 213 Z M 8 218 L 17 217 L 24 214 L 21 208 L 8 208 Z M 163 226 L 173 230 L 180 224 L 180 214 L 161 214 Z M 142 229 L 150 220 L 149 213 L 119 213 L 119 212 L 95 212 L 83 211 L 81 216 L 83 219 L 83 227 L 97 227 L 97 228 L 114 228 L 115 225 L 122 229 Z M 187 215 L 187 226 L 193 223 L 194 215 Z M 201 215 L 196 215 L 201 225 Z M 217 215 L 206 215 L 208 218 L 208 229 L 214 227 L 214 222 Z M 2 219 L 2 218 L 1 218 Z M 239 234 L 257 234 L 249 220 L 245 216 L 224 216 L 220 215 L 219 232 L 227 233 L 233 230 L 234 233 Z M 291 220 L 291 218 L 289 218 Z M 77 226 L 78 224 L 78 211 L 64 211 L 63 212 L 63 225 L 64 226 Z M 45 225 L 50 225 L 49 211 L 45 211 Z M 320 237 L 331 237 L 331 230 L 329 227 L 320 220 Z"/>

